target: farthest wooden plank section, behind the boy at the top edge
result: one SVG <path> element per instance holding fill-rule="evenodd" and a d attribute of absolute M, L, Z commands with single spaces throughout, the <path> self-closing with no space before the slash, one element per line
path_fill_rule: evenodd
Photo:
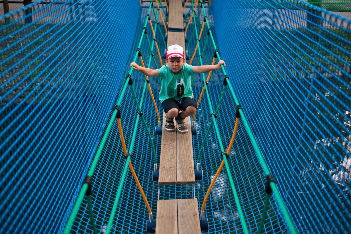
<path fill-rule="evenodd" d="M 170 0 L 168 7 L 168 29 L 183 31 L 183 6 L 181 0 Z"/>

